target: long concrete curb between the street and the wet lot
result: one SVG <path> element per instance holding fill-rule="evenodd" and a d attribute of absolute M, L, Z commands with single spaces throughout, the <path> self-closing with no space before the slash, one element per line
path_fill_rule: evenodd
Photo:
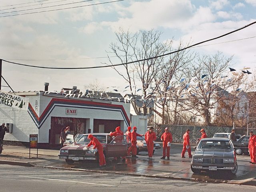
<path fill-rule="evenodd" d="M 194 182 L 227 183 L 227 184 L 256 186 L 256 178 L 250 178 L 250 179 L 245 179 L 245 180 L 237 180 L 237 181 L 218 180 L 218 179 L 206 179 L 206 180 L 204 180 L 204 179 L 199 179 L 199 178 L 186 178 L 186 177 L 177 177 L 177 176 L 160 176 L 160 175 L 126 173 L 126 172 L 108 171 L 108 170 L 90 170 L 90 169 L 78 169 L 78 168 L 61 168 L 61 167 L 54 167 L 54 166 L 38 166 L 38 165 L 32 164 L 30 162 L 20 162 L 20 161 L 0 160 L 0 164 L 28 166 L 28 167 L 40 167 L 40 168 L 51 168 L 51 169 L 61 169 L 61 170 L 73 170 L 73 171 L 82 171 L 82 172 L 97 172 L 97 173 L 130 175 L 130 176 L 144 176 L 144 177 L 151 177 L 151 178 L 165 178 L 165 179 L 186 180 L 186 181 L 194 181 Z"/>

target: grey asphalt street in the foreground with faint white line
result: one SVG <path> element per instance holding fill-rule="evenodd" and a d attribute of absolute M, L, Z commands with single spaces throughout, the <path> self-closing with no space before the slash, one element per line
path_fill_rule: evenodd
<path fill-rule="evenodd" d="M 252 192 L 256 186 L 0 165 L 1 192 Z"/>

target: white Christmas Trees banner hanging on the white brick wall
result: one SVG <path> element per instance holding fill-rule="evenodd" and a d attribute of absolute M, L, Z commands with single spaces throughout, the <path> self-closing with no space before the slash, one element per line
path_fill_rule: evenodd
<path fill-rule="evenodd" d="M 28 98 L 0 90 L 0 104 L 19 110 L 28 110 Z"/>

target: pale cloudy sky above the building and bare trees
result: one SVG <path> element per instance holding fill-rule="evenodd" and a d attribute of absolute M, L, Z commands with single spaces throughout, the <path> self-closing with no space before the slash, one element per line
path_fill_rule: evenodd
<path fill-rule="evenodd" d="M 120 27 L 131 32 L 155 29 L 162 32 L 162 41 L 174 38 L 194 44 L 256 21 L 256 0 L 123 0 L 101 4 L 110 1 L 114 0 L 1 0 L 0 58 L 46 67 L 102 66 L 108 62 L 109 45 L 116 42 L 114 32 Z M 234 55 L 232 68 L 237 70 L 256 68 L 256 24 L 202 45 L 192 50 Z M 77 86 L 84 92 L 84 85 L 95 79 L 104 87 L 122 90 L 127 85 L 111 68 L 52 70 L 3 61 L 2 76 L 14 91 L 43 90 L 44 82 L 49 82 L 52 91 Z M 3 80 L 2 85 L 6 85 Z"/>

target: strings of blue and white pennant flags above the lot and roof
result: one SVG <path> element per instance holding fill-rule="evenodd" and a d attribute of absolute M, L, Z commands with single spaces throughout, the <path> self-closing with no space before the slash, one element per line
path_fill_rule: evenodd
<path fill-rule="evenodd" d="M 230 72 L 236 72 L 237 70 L 234 69 L 234 68 L 229 68 L 230 69 Z M 244 68 L 242 70 L 238 70 L 238 71 L 241 71 L 242 73 L 244 74 L 252 74 L 252 72 L 249 72 L 248 69 L 250 68 Z M 246 70 L 246 71 L 245 71 Z M 200 78 L 202 80 L 202 83 L 205 84 L 204 85 L 204 88 L 206 86 L 208 86 L 208 84 L 206 84 L 206 82 L 208 82 L 208 80 L 204 80 L 204 78 L 206 78 L 206 76 L 208 76 L 208 74 L 203 74 Z M 180 98 L 185 98 L 186 96 L 204 96 L 204 95 L 207 95 L 209 94 L 209 92 L 200 92 L 199 94 L 196 94 L 196 93 L 193 93 L 193 89 L 198 89 L 199 86 L 198 86 L 198 82 L 196 82 L 196 78 L 198 77 L 192 77 L 188 80 L 188 83 L 185 83 L 187 78 L 181 78 L 180 81 L 178 82 L 178 84 L 176 83 L 175 86 L 168 86 L 166 89 L 166 91 L 153 91 L 153 92 L 149 92 L 146 96 L 144 95 L 139 95 L 139 94 L 134 94 L 135 97 L 137 98 L 134 98 L 133 96 L 126 96 L 126 97 L 123 97 L 120 93 L 120 97 L 109 97 L 108 96 L 108 93 L 118 93 L 118 92 L 126 92 L 126 91 L 130 91 L 128 90 L 128 88 L 132 87 L 132 90 L 136 91 L 136 92 L 139 92 L 141 90 L 143 90 L 143 88 L 136 88 L 136 87 L 139 87 L 137 85 L 128 85 L 128 86 L 125 86 L 124 87 L 124 90 L 122 90 L 122 87 L 121 86 L 110 86 L 110 87 L 107 87 L 106 89 L 110 89 L 109 91 L 106 91 L 106 92 L 99 92 L 99 91 L 95 91 L 95 90 L 84 90 L 84 94 L 82 92 L 80 93 L 69 93 L 70 90 L 60 90 L 60 91 L 45 91 L 44 94 L 50 94 L 50 93 L 56 93 L 56 94 L 64 94 L 65 97 L 68 97 L 68 98 L 79 98 L 79 97 L 86 97 L 86 98 L 95 98 L 94 96 L 100 96 L 99 99 L 115 99 L 115 100 L 118 100 L 118 102 L 131 102 L 131 101 L 143 101 L 143 102 L 146 102 L 147 100 L 149 100 L 150 102 L 159 102 L 159 101 L 163 101 L 165 99 L 170 99 L 171 97 L 167 96 L 167 97 L 157 97 L 156 98 L 156 95 L 157 94 L 166 94 L 166 93 L 170 93 L 170 92 L 174 92 L 175 90 L 173 90 L 173 88 L 177 88 L 177 87 L 181 87 L 179 90 L 177 90 L 177 96 L 179 96 Z M 226 79 L 227 78 L 227 79 Z M 232 79 L 229 78 L 228 74 L 227 75 L 224 75 L 224 76 L 221 76 L 220 78 L 216 78 L 216 79 L 212 79 L 212 82 L 210 82 L 210 87 L 214 86 L 215 84 L 217 84 L 218 82 L 221 82 L 223 80 L 226 81 L 231 81 Z M 170 82 L 172 80 L 163 80 L 162 82 L 160 82 L 160 84 L 162 83 L 165 83 L 165 82 Z M 147 83 L 147 84 L 156 84 L 156 82 L 150 82 L 150 83 Z M 121 90 L 119 90 L 121 88 Z M 149 88 L 147 88 L 145 91 L 152 91 L 154 90 L 156 87 L 154 86 L 150 86 Z M 242 90 L 242 88 L 238 88 L 236 89 L 236 91 L 240 91 Z M 76 90 L 74 90 L 75 92 Z M 80 91 L 80 90 L 79 90 Z M 218 92 L 223 92 L 224 90 L 218 90 L 218 91 L 214 91 L 212 92 L 213 94 L 216 94 Z M 128 94 L 126 94 L 128 95 Z M 176 98 L 177 96 L 172 96 L 174 98 Z"/>

